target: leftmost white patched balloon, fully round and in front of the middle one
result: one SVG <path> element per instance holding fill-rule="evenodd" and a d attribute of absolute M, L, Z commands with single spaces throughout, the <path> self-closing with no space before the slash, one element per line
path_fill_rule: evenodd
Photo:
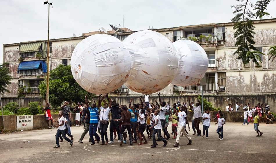
<path fill-rule="evenodd" d="M 78 43 L 71 70 L 78 84 L 94 94 L 120 88 L 130 75 L 131 59 L 123 43 L 110 35 L 96 34 Z"/>

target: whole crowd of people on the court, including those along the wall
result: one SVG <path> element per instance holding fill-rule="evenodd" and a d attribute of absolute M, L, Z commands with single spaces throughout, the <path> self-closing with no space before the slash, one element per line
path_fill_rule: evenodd
<path fill-rule="evenodd" d="M 127 141 L 127 134 L 129 137 L 129 144 L 131 146 L 133 145 L 133 143 L 137 143 L 137 145 L 139 146 L 147 144 L 148 140 L 150 139 L 152 139 L 153 141 L 151 148 L 156 148 L 158 146 L 158 141 L 162 141 L 164 143 L 163 146 L 166 146 L 168 140 L 171 138 L 171 135 L 173 135 L 172 139 L 176 139 L 175 144 L 173 145 L 174 147 L 179 146 L 180 137 L 182 136 L 185 136 L 188 139 L 187 145 L 190 145 L 192 143 L 192 140 L 188 134 L 188 131 L 186 130 L 186 125 L 188 125 L 188 130 L 191 130 L 189 121 L 187 119 L 188 110 L 194 112 L 193 120 L 191 122 L 191 127 L 194 132 L 193 135 L 197 134 L 198 137 L 201 136 L 202 138 L 208 139 L 208 128 L 210 127 L 210 122 L 216 119 L 217 122 L 215 124 L 218 124 L 217 133 L 219 139 L 223 140 L 223 125 L 225 124 L 225 119 L 223 118 L 223 114 L 220 110 L 218 111 L 216 117 L 212 119 L 209 114 L 209 109 L 206 109 L 205 113 L 202 115 L 201 102 L 200 100 L 198 100 L 197 96 L 197 102 L 195 105 L 193 104 L 193 102 L 190 102 L 191 98 L 189 97 L 188 104 L 187 102 L 183 102 L 181 104 L 178 101 L 177 103 L 173 103 L 171 107 L 169 102 L 166 103 L 161 100 L 160 93 L 158 93 L 157 95 L 159 103 L 157 102 L 157 100 L 155 100 L 156 105 L 153 103 L 150 104 L 150 102 L 148 102 L 149 95 L 146 94 L 144 95 L 144 102 L 142 101 L 143 97 L 141 96 L 139 98 L 140 103 L 132 104 L 133 99 L 131 98 L 128 106 L 120 105 L 116 102 L 116 100 L 111 100 L 111 98 L 108 97 L 108 94 L 103 95 L 102 97 L 101 95 L 99 95 L 98 104 L 96 104 L 96 101 L 94 99 L 91 104 L 91 101 L 87 99 L 87 96 L 85 96 L 85 104 L 78 103 L 74 109 L 74 111 L 76 111 L 76 114 L 78 113 L 78 115 L 76 115 L 76 126 L 79 126 L 80 121 L 84 125 L 84 132 L 82 133 L 78 142 L 83 143 L 82 140 L 84 139 L 85 135 L 89 132 L 89 142 L 91 142 L 91 145 L 99 143 L 100 141 L 100 145 L 113 144 L 118 135 L 118 143 L 120 143 L 119 145 L 122 146 L 123 143 L 126 143 Z M 106 100 L 104 100 L 105 98 Z M 49 103 L 47 103 L 48 108 L 46 107 L 47 109 L 45 109 L 45 113 L 48 115 L 48 117 L 46 116 L 46 119 L 48 120 L 48 126 L 50 127 L 49 121 L 52 120 L 52 127 L 50 128 L 58 127 L 58 131 L 56 134 L 56 146 L 54 146 L 54 148 L 60 148 L 59 142 L 63 141 L 63 139 L 68 141 L 71 146 L 73 144 L 74 138 L 71 135 L 70 130 L 71 112 L 67 104 L 68 102 L 65 101 L 64 104 L 61 106 L 61 111 L 59 111 L 58 113 L 58 121 L 53 120 L 51 118 L 51 115 L 49 117 Z M 238 106 L 237 109 L 241 107 L 241 105 L 239 105 L 238 102 L 236 102 L 236 105 Z M 230 111 L 231 104 L 229 104 L 228 106 L 228 109 Z M 257 129 L 259 122 L 261 123 L 261 121 L 259 121 L 261 117 L 261 114 L 259 113 L 262 110 L 260 109 L 261 105 L 258 104 L 254 108 L 255 110 L 253 110 L 253 108 L 250 106 L 250 103 L 248 103 L 246 106 L 247 107 L 244 107 L 245 120 L 243 125 L 245 124 L 245 122 L 248 124 L 249 120 L 251 120 L 252 122 L 252 114 L 256 114 L 254 120 L 254 127 L 258 135 L 261 136 L 262 132 L 260 132 Z M 267 123 L 272 123 L 273 116 L 272 114 L 270 114 L 269 106 L 265 103 L 265 111 L 267 109 Z M 111 114 L 110 117 L 109 113 Z M 202 135 L 201 130 L 199 128 L 201 118 L 203 120 Z M 169 121 L 172 121 L 171 133 L 167 131 Z M 58 122 L 59 125 L 53 126 L 53 122 Z M 178 125 L 179 128 L 177 129 Z M 108 126 L 110 132 L 109 138 L 107 137 Z M 144 135 L 145 130 L 148 136 L 147 138 Z M 164 137 L 162 136 L 161 130 L 164 134 Z M 71 140 L 66 137 L 66 134 L 69 137 L 71 137 Z"/>

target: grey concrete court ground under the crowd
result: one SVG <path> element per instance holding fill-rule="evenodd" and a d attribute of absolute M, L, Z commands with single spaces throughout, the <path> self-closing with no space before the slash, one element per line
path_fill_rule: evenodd
<path fill-rule="evenodd" d="M 191 125 L 191 122 L 189 122 Z M 188 126 L 187 126 L 188 127 Z M 203 127 L 200 125 L 200 130 Z M 209 139 L 192 135 L 192 144 L 186 145 L 186 137 L 180 137 L 180 147 L 173 147 L 175 139 L 157 142 L 157 148 L 148 144 L 133 146 L 123 143 L 119 146 L 118 139 L 114 144 L 100 146 L 101 143 L 90 145 L 89 134 L 78 140 L 83 132 L 83 126 L 71 127 L 74 144 L 70 147 L 66 141 L 60 142 L 60 148 L 55 146 L 57 129 L 42 129 L 18 131 L 0 134 L 0 162 L 275 162 L 276 161 L 276 125 L 260 123 L 259 130 L 264 134 L 256 137 L 253 124 L 243 126 L 242 123 L 226 123 L 223 127 L 223 139 L 218 139 L 217 125 L 211 122 Z M 109 137 L 109 129 L 107 130 Z M 171 122 L 168 131 L 171 132 Z M 146 131 L 144 132 L 145 136 Z M 163 133 L 162 133 L 163 135 Z M 147 136 L 146 136 L 147 137 Z M 144 141 L 143 141 L 144 142 Z"/>

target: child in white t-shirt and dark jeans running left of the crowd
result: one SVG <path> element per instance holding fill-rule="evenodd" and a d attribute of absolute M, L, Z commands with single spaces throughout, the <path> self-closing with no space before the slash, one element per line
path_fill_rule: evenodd
<path fill-rule="evenodd" d="M 58 122 L 58 125 L 55 125 L 55 127 L 58 127 L 58 130 L 57 130 L 57 133 L 55 134 L 55 142 L 56 142 L 56 145 L 54 146 L 54 148 L 60 148 L 60 145 L 59 145 L 59 142 L 58 142 L 58 138 L 61 134 L 62 138 L 66 141 L 68 141 L 70 143 L 70 146 L 73 145 L 73 140 L 70 140 L 69 138 L 67 138 L 65 136 L 66 134 L 66 124 L 65 123 L 68 123 L 66 118 L 63 117 L 63 111 L 60 110 L 58 112 L 58 121 L 56 120 L 53 120 L 53 122 Z"/>

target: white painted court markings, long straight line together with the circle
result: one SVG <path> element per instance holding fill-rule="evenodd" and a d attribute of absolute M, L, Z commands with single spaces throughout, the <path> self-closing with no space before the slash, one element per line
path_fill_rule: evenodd
<path fill-rule="evenodd" d="M 0 139 L 0 140 L 15 140 L 15 141 L 35 141 L 35 140 L 18 140 L 18 139 Z M 55 143 L 53 141 L 36 141 L 36 142 L 47 142 L 47 143 Z M 66 142 L 60 142 L 60 143 L 67 143 Z M 76 143 L 75 143 L 76 144 Z M 77 144 L 82 144 L 82 143 L 77 143 Z M 87 144 L 87 143 L 83 143 L 83 144 Z M 169 143 L 168 143 L 169 144 Z M 87 144 L 86 146 L 89 146 L 90 144 Z M 95 144 L 95 145 L 98 145 L 99 144 Z M 86 146 L 83 147 L 83 149 L 85 150 L 88 150 L 86 149 Z M 94 145 L 93 145 L 94 146 Z M 111 144 L 108 144 L 108 146 L 119 146 L 119 143 L 118 145 L 111 145 Z M 128 148 L 150 148 L 150 147 L 143 147 L 143 146 L 119 146 L 119 147 L 128 147 Z M 273 154 L 275 155 L 276 153 L 260 153 L 260 152 L 238 152 L 238 151 L 222 151 L 222 150 L 205 150 L 205 149 L 183 149 L 183 148 L 153 148 L 153 149 L 172 149 L 172 150 L 169 150 L 169 151 L 164 151 L 164 152 L 171 152 L 173 150 L 200 150 L 200 151 L 211 151 L 211 152 L 236 152 L 236 153 L 258 153 L 258 154 Z M 88 150 L 88 151 L 91 151 L 91 152 L 96 152 L 96 153 L 104 153 L 104 152 L 98 152 L 98 151 L 92 151 L 92 150 Z M 164 153 L 164 152 L 155 152 L 155 153 Z M 107 153 L 107 154 L 112 154 L 112 153 Z M 122 154 L 126 154 L 126 153 L 122 153 Z M 135 153 L 135 154 L 145 154 L 145 153 Z M 153 153 L 148 153 L 148 154 L 153 154 Z M 132 154 L 129 154 L 129 155 L 132 155 Z"/>

